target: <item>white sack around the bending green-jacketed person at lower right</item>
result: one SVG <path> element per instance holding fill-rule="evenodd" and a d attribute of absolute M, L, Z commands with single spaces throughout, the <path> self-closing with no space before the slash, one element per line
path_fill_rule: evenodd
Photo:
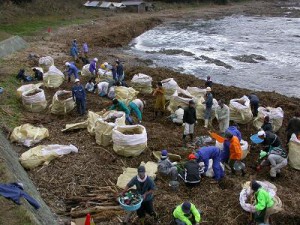
<path fill-rule="evenodd" d="M 257 181 L 267 192 L 270 193 L 271 197 L 278 197 L 276 196 L 276 192 L 277 192 L 277 188 L 274 184 L 268 182 L 268 181 Z M 247 211 L 247 212 L 251 212 L 251 204 L 248 201 L 249 197 L 252 194 L 252 190 L 250 188 L 250 181 L 247 181 L 244 185 L 243 185 L 243 189 L 240 192 L 240 205 L 241 207 Z M 277 203 L 277 201 L 276 201 Z M 278 203 L 276 205 L 277 207 L 282 207 L 282 203 L 280 201 L 280 199 L 278 200 Z"/>

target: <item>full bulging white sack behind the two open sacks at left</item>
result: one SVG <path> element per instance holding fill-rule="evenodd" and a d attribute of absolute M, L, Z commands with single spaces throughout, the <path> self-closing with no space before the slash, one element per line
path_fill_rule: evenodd
<path fill-rule="evenodd" d="M 64 74 L 55 66 L 50 66 L 48 72 L 44 73 L 43 82 L 46 87 L 57 88 L 65 80 Z"/>

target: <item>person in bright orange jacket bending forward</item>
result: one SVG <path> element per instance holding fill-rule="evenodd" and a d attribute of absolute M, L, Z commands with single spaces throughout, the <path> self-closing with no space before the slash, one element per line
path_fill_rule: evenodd
<path fill-rule="evenodd" d="M 231 168 L 231 173 L 235 175 L 236 171 L 234 169 L 234 165 L 236 163 L 239 163 L 242 160 L 242 147 L 239 139 L 236 136 L 233 136 L 232 133 L 226 132 L 225 138 L 227 138 L 227 140 L 230 142 L 229 166 Z M 241 168 L 241 171 L 242 171 L 242 176 L 245 176 L 246 174 L 245 168 Z"/>

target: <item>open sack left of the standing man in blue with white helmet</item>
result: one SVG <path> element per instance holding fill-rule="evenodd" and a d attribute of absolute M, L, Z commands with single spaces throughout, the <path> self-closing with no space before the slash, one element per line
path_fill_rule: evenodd
<path fill-rule="evenodd" d="M 69 95 L 69 98 L 60 100 L 59 96 Z M 71 112 L 75 108 L 75 102 L 72 98 L 71 91 L 57 91 L 52 99 L 52 104 L 50 105 L 50 112 L 56 115 L 64 115 Z"/>

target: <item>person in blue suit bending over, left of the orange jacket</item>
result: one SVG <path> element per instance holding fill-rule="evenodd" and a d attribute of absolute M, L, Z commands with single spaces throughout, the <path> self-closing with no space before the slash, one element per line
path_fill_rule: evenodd
<path fill-rule="evenodd" d="M 200 146 L 197 146 L 200 147 Z M 224 170 L 220 165 L 220 149 L 215 146 L 205 146 L 196 151 L 197 162 L 204 162 L 204 173 L 208 170 L 209 160 L 213 160 L 214 179 L 219 182 L 224 177 Z"/>

